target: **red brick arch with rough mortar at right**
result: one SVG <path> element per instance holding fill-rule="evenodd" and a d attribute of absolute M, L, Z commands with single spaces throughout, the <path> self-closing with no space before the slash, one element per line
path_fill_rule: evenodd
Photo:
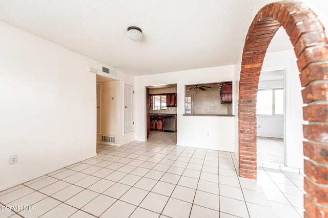
<path fill-rule="evenodd" d="M 302 87 L 304 216 L 328 217 L 328 40 L 317 15 L 301 2 L 264 6 L 244 44 L 239 83 L 239 176 L 256 179 L 256 98 L 268 46 L 280 27 L 290 36 Z M 324 205 L 324 206 L 322 206 Z M 323 214 L 323 215 L 322 215 Z"/>

